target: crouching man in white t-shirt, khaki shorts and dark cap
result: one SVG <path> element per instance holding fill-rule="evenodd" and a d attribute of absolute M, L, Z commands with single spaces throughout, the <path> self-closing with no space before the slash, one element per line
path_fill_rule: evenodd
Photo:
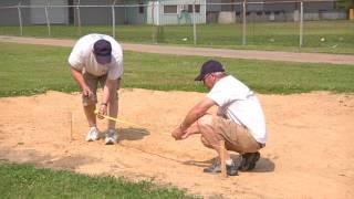
<path fill-rule="evenodd" d="M 202 81 L 208 95 L 196 104 L 184 122 L 171 133 L 176 139 L 185 139 L 192 134 L 201 134 L 201 143 L 215 149 L 220 158 L 220 140 L 226 143 L 226 167 L 229 176 L 238 169 L 251 170 L 260 158 L 259 149 L 266 146 L 267 133 L 263 111 L 251 90 L 231 75 L 226 74 L 221 63 L 210 60 L 202 64 L 195 81 Z M 216 116 L 207 113 L 218 106 Z M 242 155 L 239 167 L 230 158 L 228 150 Z M 204 169 L 205 172 L 220 172 L 220 161 Z"/>

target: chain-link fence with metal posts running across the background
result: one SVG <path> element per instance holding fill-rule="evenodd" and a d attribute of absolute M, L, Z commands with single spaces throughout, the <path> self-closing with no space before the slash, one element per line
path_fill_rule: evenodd
<path fill-rule="evenodd" d="M 0 34 L 354 53 L 348 13 L 332 0 L 3 0 Z"/>

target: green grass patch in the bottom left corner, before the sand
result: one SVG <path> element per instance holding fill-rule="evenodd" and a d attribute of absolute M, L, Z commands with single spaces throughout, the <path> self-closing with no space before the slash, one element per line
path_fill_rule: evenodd
<path fill-rule="evenodd" d="M 0 176 L 1 198 L 192 198 L 150 181 L 134 184 L 123 178 L 92 177 L 30 165 L 0 163 Z"/>

